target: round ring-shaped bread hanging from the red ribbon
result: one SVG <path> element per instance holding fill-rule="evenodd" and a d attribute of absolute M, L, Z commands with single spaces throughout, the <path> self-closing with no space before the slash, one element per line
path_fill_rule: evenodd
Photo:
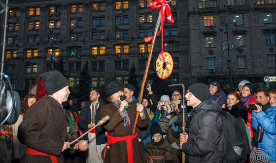
<path fill-rule="evenodd" d="M 165 69 L 163 69 L 163 60 L 166 63 Z M 164 80 L 173 72 L 173 58 L 168 52 L 163 52 L 163 60 L 161 55 L 159 55 L 156 60 L 156 73 L 160 79 Z"/>

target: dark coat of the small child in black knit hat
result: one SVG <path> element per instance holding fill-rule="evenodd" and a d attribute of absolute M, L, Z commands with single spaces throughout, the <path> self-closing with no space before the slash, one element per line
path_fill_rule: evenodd
<path fill-rule="evenodd" d="M 148 161 L 148 156 L 165 156 L 165 160 L 153 160 L 153 163 L 174 163 L 171 151 L 172 146 L 168 141 L 164 141 L 162 138 L 160 142 L 154 142 L 151 139 L 151 142 L 145 144 L 145 163 Z"/>

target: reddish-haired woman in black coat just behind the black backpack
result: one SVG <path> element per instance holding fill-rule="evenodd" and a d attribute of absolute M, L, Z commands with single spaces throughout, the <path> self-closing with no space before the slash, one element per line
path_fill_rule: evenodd
<path fill-rule="evenodd" d="M 241 101 L 241 94 L 237 92 L 230 92 L 227 95 L 227 105 L 221 107 L 224 111 L 229 112 L 236 118 L 241 117 L 242 120 L 247 123 L 247 108 Z"/>

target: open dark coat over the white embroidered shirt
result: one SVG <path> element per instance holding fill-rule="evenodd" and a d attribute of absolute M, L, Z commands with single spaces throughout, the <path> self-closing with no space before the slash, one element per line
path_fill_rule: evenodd
<path fill-rule="evenodd" d="M 96 116 L 95 116 L 95 124 L 97 124 L 101 119 L 100 119 L 100 111 L 101 108 L 105 105 L 104 101 L 99 100 L 100 104 L 98 109 L 96 110 Z M 88 131 L 88 124 L 91 123 L 91 101 L 89 101 L 81 110 L 79 120 L 78 120 L 78 127 L 83 130 L 83 132 Z M 105 144 L 106 143 L 106 136 L 105 136 L 105 129 L 102 125 L 98 125 L 95 128 L 95 134 L 96 134 L 96 144 Z M 83 139 L 88 140 L 88 134 L 83 136 Z"/>

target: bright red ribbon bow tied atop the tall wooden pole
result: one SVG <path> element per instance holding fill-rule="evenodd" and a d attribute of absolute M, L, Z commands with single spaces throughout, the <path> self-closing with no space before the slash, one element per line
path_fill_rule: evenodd
<path fill-rule="evenodd" d="M 161 4 L 159 4 L 161 3 Z M 158 5 L 159 4 L 159 5 Z M 170 23 L 173 23 L 173 15 L 171 12 L 171 8 L 169 6 L 169 4 L 167 3 L 166 0 L 154 0 L 152 2 L 149 3 L 149 6 L 153 9 L 159 9 L 161 7 L 161 25 L 160 25 L 160 30 L 157 33 L 157 36 L 160 34 L 160 32 L 162 32 L 162 51 L 158 54 L 162 56 L 162 60 L 163 60 L 163 52 L 164 52 L 164 44 L 163 44 L 163 26 L 164 26 L 164 22 L 165 22 L 165 14 L 167 15 L 167 20 Z M 153 36 L 148 37 L 148 38 L 144 38 L 145 42 L 151 41 L 153 39 Z"/>

